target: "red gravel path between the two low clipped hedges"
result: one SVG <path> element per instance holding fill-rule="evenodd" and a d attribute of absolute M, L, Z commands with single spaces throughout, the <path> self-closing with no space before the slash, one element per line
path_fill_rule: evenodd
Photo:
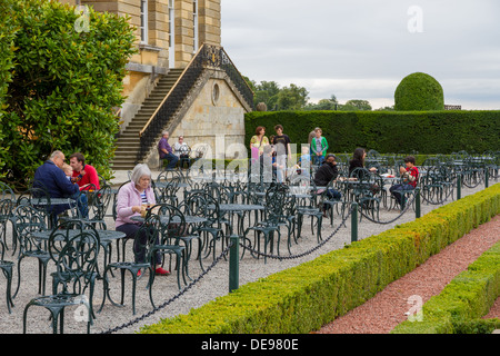
<path fill-rule="evenodd" d="M 500 240 L 500 215 L 431 256 L 424 264 L 391 283 L 363 305 L 323 326 L 318 334 L 388 334 L 408 316 L 408 298 L 418 295 L 426 303 L 458 274 Z M 500 317 L 500 303 L 487 317 Z"/>

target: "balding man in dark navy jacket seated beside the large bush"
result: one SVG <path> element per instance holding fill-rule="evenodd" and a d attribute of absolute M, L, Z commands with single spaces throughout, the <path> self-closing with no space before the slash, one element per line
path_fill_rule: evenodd
<path fill-rule="evenodd" d="M 87 196 L 80 195 L 77 184 L 72 184 L 62 171 L 64 154 L 57 150 L 50 155 L 43 165 L 37 168 L 34 172 L 33 186 L 42 187 L 48 190 L 51 198 L 71 198 L 77 200 L 77 206 L 82 217 L 88 217 Z M 68 204 L 53 205 L 52 215 L 56 217 L 62 211 L 69 209 Z"/>

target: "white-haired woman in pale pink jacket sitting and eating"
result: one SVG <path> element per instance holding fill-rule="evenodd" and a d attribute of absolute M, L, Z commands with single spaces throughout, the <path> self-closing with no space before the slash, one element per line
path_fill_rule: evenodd
<path fill-rule="evenodd" d="M 151 188 L 151 170 L 148 165 L 137 165 L 130 176 L 130 182 L 126 184 L 118 191 L 117 199 L 117 220 L 116 229 L 127 235 L 126 238 L 136 238 L 137 231 L 141 224 L 130 218 L 141 214 L 142 205 L 156 204 L 154 192 Z M 141 245 L 146 244 L 146 234 L 141 234 L 138 238 L 141 239 Z M 144 261 L 144 253 L 134 251 L 136 263 Z M 161 254 L 156 255 L 156 270 L 157 275 L 169 275 L 168 270 L 161 268 Z"/>

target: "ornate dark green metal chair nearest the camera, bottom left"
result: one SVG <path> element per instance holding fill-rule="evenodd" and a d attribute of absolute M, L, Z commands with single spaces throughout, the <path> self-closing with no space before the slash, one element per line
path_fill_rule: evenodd
<path fill-rule="evenodd" d="M 54 231 L 60 231 L 54 230 Z M 48 309 L 52 318 L 52 332 L 63 334 L 64 309 L 70 306 L 81 306 L 87 316 L 87 333 L 93 324 L 92 300 L 84 293 L 93 290 L 97 278 L 97 261 L 99 255 L 99 236 L 91 230 L 80 230 L 76 235 L 51 234 L 48 250 L 56 264 L 53 276 L 53 295 L 31 299 L 24 307 L 22 316 L 23 333 L 27 333 L 28 310 L 33 306 Z M 61 291 L 57 293 L 61 286 Z"/>

